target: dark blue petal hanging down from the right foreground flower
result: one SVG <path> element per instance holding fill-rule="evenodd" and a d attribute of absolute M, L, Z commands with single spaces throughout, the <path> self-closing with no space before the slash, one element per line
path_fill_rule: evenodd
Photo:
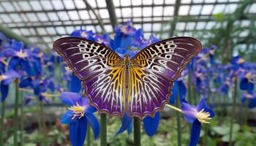
<path fill-rule="evenodd" d="M 196 146 L 200 139 L 201 123 L 195 120 L 190 130 L 189 146 Z"/>

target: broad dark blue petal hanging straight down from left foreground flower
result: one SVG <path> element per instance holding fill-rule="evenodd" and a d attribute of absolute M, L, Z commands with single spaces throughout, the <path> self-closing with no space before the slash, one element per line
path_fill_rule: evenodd
<path fill-rule="evenodd" d="M 86 139 L 87 120 L 85 117 L 77 119 L 69 126 L 69 139 L 72 146 L 83 146 Z"/>

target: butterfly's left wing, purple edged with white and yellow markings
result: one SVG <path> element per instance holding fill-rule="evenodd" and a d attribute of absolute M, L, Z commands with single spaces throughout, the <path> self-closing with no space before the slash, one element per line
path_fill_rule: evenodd
<path fill-rule="evenodd" d="M 56 40 L 53 49 L 82 81 L 90 104 L 110 116 L 124 114 L 124 67 L 120 56 L 97 42 L 75 37 Z"/>

